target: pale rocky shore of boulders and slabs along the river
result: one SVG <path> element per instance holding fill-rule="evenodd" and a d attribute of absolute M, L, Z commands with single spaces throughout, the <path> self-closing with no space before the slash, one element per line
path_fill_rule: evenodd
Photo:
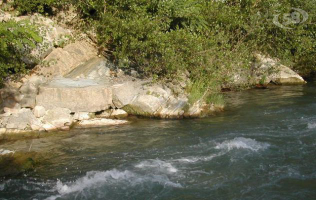
<path fill-rule="evenodd" d="M 0 20 L 10 17 L 1 16 Z M 98 55 L 86 35 L 70 41 L 72 30 L 48 18 L 28 17 L 46 27 L 42 36 L 47 45 L 34 49 L 34 55 L 48 64 L 38 64 L 20 81 L 8 81 L 0 90 L 4 111 L 0 114 L 0 134 L 124 124 L 128 115 L 200 117 L 221 108 L 204 102 L 188 103 L 187 71 L 180 73 L 179 80 L 163 83 L 140 78 L 136 71 L 118 69 Z M 66 44 L 54 45 L 60 41 Z M 275 70 L 267 73 L 271 68 Z M 250 69 L 232 72 L 232 80 L 222 87 L 255 85 L 262 74 L 268 74 L 264 83 L 305 83 L 277 60 L 257 54 L 257 62 Z"/>

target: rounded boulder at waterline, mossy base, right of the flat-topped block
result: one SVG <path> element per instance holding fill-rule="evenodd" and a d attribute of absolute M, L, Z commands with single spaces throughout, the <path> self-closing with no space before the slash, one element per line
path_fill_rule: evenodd
<path fill-rule="evenodd" d="M 136 96 L 129 104 L 123 107 L 127 113 L 153 116 L 155 111 L 160 107 L 159 98 L 148 94 L 140 94 Z"/>

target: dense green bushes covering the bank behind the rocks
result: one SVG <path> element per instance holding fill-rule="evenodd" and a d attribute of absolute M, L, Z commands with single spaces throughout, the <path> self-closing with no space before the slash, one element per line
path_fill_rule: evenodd
<path fill-rule="evenodd" d="M 316 69 L 315 0 L 14 0 L 21 14 L 72 4 L 81 29 L 95 31 L 103 54 L 143 75 L 173 78 L 188 70 L 200 91 L 214 93 L 247 68 L 255 52 L 309 74 Z M 64 6 L 63 6 L 64 5 Z M 303 24 L 282 29 L 277 13 L 298 7 Z M 279 21 L 282 22 L 282 14 Z M 82 23 L 83 21 L 83 23 Z M 196 83 L 196 84 L 197 84 Z M 198 98 L 198 97 L 196 97 Z"/>

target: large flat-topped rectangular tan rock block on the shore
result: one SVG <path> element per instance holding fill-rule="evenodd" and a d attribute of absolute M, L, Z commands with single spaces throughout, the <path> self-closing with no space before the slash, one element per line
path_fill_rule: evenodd
<path fill-rule="evenodd" d="M 64 107 L 71 112 L 96 112 L 112 105 L 112 91 L 93 79 L 55 78 L 39 85 L 36 105 Z"/>

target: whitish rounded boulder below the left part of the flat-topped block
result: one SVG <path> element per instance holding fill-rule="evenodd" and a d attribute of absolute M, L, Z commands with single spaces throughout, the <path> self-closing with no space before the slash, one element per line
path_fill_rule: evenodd
<path fill-rule="evenodd" d="M 61 107 L 47 110 L 46 114 L 43 116 L 42 122 L 48 125 L 51 124 L 56 128 L 63 127 L 66 123 L 72 122 L 72 116 L 70 112 L 70 109 Z M 43 127 L 45 128 L 45 126 Z"/>

